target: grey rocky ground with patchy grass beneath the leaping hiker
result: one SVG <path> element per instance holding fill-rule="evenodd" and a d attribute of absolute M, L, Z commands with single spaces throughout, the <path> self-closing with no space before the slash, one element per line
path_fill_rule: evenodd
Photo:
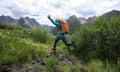
<path fill-rule="evenodd" d="M 76 72 L 74 65 L 79 66 L 80 72 L 86 72 L 84 62 L 77 60 L 73 55 L 65 56 L 63 54 L 48 55 L 46 58 L 54 56 L 58 59 L 57 66 L 52 72 L 64 72 L 63 66 L 69 66 L 71 72 Z M 43 70 L 44 60 L 33 59 L 31 62 L 19 62 L 10 65 L 0 66 L 0 72 L 51 72 Z"/>

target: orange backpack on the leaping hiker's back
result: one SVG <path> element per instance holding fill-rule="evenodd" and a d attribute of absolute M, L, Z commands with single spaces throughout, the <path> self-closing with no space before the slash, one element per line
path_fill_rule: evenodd
<path fill-rule="evenodd" d="M 68 23 L 65 20 L 60 20 L 60 24 L 61 30 L 58 32 L 58 34 L 67 34 L 69 32 Z"/>

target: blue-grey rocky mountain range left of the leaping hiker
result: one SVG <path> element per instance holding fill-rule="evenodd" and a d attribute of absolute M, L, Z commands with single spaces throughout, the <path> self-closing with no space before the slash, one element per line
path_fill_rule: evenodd
<path fill-rule="evenodd" d="M 9 24 L 19 24 L 20 26 L 24 28 L 34 28 L 34 27 L 42 27 L 47 30 L 51 30 L 53 26 L 39 24 L 34 18 L 29 17 L 20 17 L 19 19 L 12 18 L 10 16 L 0 16 L 0 21 L 9 23 Z"/>

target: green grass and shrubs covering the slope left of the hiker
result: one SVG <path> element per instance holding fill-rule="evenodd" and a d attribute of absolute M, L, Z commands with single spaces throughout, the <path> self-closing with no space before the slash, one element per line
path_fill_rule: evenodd
<path fill-rule="evenodd" d="M 0 65 L 31 61 L 34 57 L 44 58 L 47 46 L 41 43 L 46 43 L 50 39 L 50 35 L 47 34 L 48 32 L 41 28 L 25 29 L 1 22 Z"/>

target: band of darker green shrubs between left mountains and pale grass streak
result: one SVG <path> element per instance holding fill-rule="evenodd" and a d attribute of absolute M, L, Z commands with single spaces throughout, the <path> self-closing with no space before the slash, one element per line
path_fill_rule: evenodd
<path fill-rule="evenodd" d="M 48 31 L 42 28 L 26 29 L 19 25 L 11 25 L 0 22 L 0 29 L 9 30 L 10 36 L 18 38 L 30 38 L 36 42 L 46 43 L 50 39 Z"/>

